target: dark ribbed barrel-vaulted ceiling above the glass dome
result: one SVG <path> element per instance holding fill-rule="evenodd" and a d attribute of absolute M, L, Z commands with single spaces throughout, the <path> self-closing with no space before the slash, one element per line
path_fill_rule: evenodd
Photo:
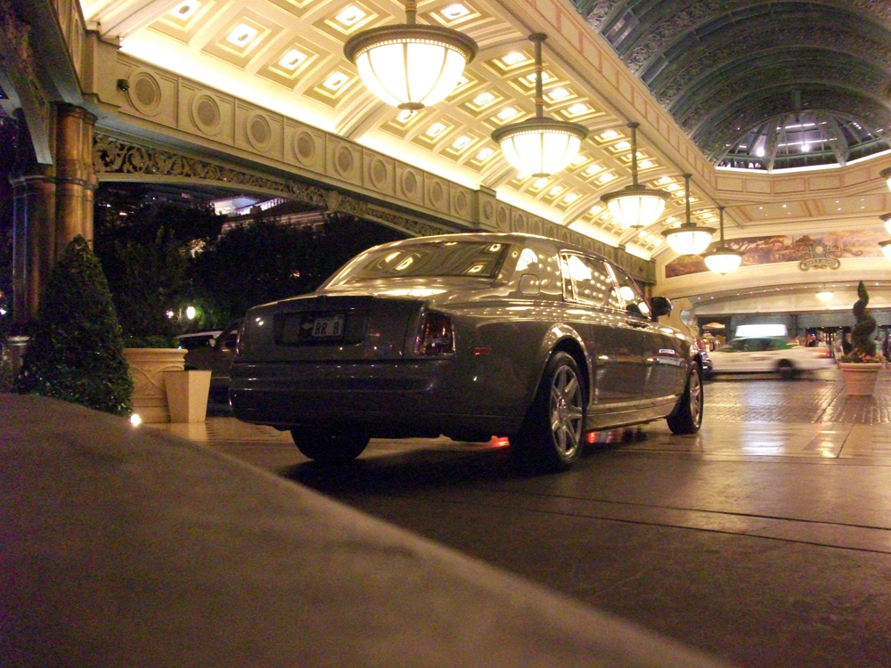
<path fill-rule="evenodd" d="M 824 162 L 891 137 L 891 4 L 881 0 L 576 0 L 708 159 L 745 154 L 769 120 L 819 112 L 857 123 Z M 827 140 L 828 143 L 828 140 Z M 861 144 L 860 151 L 857 147 Z M 813 142 L 804 144 L 810 151 Z M 827 147 L 828 149 L 829 147 Z M 838 147 L 837 147 L 838 148 Z M 759 168 L 765 168 L 762 161 Z M 812 162 L 813 164 L 813 162 Z M 777 164 L 776 167 L 784 167 Z"/>

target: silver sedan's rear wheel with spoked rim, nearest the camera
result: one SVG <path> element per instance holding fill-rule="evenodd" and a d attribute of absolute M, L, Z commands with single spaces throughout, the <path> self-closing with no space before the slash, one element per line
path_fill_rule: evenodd
<path fill-rule="evenodd" d="M 567 353 L 553 354 L 526 422 L 511 438 L 520 465 L 535 473 L 571 467 L 582 452 L 584 406 L 582 374 L 576 360 Z"/>

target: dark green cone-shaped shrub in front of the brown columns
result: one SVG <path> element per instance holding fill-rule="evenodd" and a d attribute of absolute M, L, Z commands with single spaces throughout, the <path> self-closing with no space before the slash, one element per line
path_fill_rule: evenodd
<path fill-rule="evenodd" d="M 129 415 L 130 379 L 118 316 L 99 260 L 72 240 L 53 267 L 14 389 Z"/>

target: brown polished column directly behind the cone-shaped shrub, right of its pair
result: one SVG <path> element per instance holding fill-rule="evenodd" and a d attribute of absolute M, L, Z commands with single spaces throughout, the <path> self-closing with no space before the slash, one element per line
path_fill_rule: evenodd
<path fill-rule="evenodd" d="M 96 117 L 69 104 L 56 118 L 55 257 L 78 234 L 93 241 L 93 127 Z"/>

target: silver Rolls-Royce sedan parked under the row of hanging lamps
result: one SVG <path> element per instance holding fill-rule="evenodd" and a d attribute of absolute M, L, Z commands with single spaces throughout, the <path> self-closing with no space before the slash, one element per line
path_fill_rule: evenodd
<path fill-rule="evenodd" d="M 229 400 L 290 429 L 314 460 L 372 437 L 508 436 L 525 468 L 578 458 L 587 432 L 702 421 L 691 338 L 658 322 L 622 269 L 528 234 L 401 240 L 353 258 L 314 293 L 251 308 Z"/>

